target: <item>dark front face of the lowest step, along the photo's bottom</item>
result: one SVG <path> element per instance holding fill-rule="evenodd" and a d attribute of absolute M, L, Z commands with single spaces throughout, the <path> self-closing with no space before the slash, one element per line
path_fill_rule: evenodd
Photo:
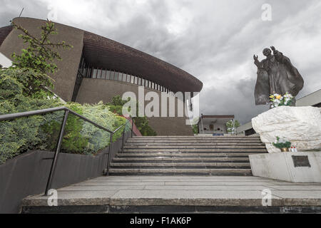
<path fill-rule="evenodd" d="M 243 207 L 243 206 L 63 206 L 24 207 L 23 214 L 320 214 L 321 207 Z"/>

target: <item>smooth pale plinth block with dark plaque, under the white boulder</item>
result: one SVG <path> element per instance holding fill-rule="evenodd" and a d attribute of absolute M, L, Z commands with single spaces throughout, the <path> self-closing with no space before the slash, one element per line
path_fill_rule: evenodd
<path fill-rule="evenodd" d="M 321 152 L 249 155 L 253 175 L 288 182 L 321 182 Z"/>

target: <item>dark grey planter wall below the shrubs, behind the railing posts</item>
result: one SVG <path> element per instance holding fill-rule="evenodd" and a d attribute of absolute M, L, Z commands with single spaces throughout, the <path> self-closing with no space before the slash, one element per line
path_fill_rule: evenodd
<path fill-rule="evenodd" d="M 125 140 L 131 133 L 126 134 Z M 113 143 L 111 157 L 121 149 L 122 140 Z M 49 177 L 54 152 L 31 151 L 0 165 L 0 214 L 19 213 L 21 200 L 29 195 L 43 194 Z M 106 168 L 108 147 L 96 156 L 58 155 L 56 173 L 51 188 L 58 189 L 99 177 Z"/>

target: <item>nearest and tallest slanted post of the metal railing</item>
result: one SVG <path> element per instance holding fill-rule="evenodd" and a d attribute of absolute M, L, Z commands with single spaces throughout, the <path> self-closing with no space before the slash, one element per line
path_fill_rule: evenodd
<path fill-rule="evenodd" d="M 59 154 L 59 152 L 61 150 L 61 145 L 62 145 L 62 142 L 63 142 L 63 134 L 65 133 L 68 114 L 69 114 L 69 110 L 65 110 L 65 113 L 64 113 L 64 116 L 63 116 L 63 123 L 61 125 L 59 138 L 58 138 L 58 142 L 57 142 L 57 146 L 56 146 L 56 151 L 55 151 L 55 154 L 54 154 L 54 159 L 53 159 L 52 164 L 51 164 L 49 178 L 48 178 L 48 182 L 47 182 L 47 185 L 46 185 L 46 191 L 45 191 L 45 195 L 46 196 L 48 196 L 48 192 L 49 192 L 49 190 L 51 188 L 52 180 L 54 178 L 54 173 L 55 173 L 55 170 L 56 170 L 58 154 Z"/>

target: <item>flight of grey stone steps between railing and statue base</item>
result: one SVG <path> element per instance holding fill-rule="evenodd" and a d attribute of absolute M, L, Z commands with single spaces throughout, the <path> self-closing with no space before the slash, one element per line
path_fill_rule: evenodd
<path fill-rule="evenodd" d="M 113 158 L 110 175 L 249 176 L 248 155 L 265 152 L 259 137 L 134 137 Z"/>

